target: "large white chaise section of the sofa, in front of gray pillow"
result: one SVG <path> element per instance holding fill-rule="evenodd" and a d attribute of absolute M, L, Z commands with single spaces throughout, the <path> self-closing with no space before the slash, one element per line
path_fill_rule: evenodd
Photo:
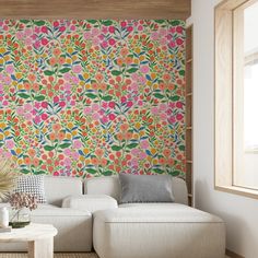
<path fill-rule="evenodd" d="M 93 243 L 101 258 L 224 258 L 219 218 L 176 203 L 126 206 L 94 214 Z"/>

